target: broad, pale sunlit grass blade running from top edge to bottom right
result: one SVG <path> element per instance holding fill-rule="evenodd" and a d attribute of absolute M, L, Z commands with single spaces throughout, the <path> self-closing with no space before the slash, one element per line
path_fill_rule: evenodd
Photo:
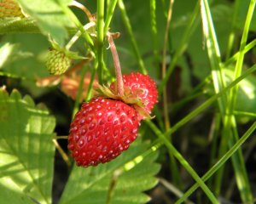
<path fill-rule="evenodd" d="M 214 26 L 212 24 L 212 16 L 210 13 L 210 8 L 208 5 L 207 0 L 201 1 L 201 15 L 203 21 L 203 28 L 204 34 L 207 40 L 207 51 L 212 67 L 212 79 L 215 88 L 215 92 L 218 93 L 219 90 L 223 89 L 225 86 L 224 82 L 224 73 L 222 71 L 222 65 L 220 60 L 220 52 L 218 48 L 218 41 L 214 31 Z M 236 85 L 237 86 L 237 85 Z M 234 89 L 232 89 L 234 91 Z M 231 91 L 231 92 L 232 92 Z M 235 137 L 234 129 L 236 129 L 236 120 L 233 116 L 230 115 L 230 103 L 227 105 L 227 95 L 220 98 L 218 101 L 219 110 L 221 112 L 222 118 L 224 120 L 224 130 L 222 133 L 222 141 L 219 147 L 219 156 L 223 156 L 227 146 L 232 146 L 237 139 L 233 140 Z M 233 118 L 233 120 L 231 120 Z M 230 128 L 233 128 L 233 132 Z M 236 132 L 236 131 L 235 131 Z M 245 163 L 243 160 L 243 156 L 241 150 L 237 151 L 237 154 L 232 156 L 232 164 L 236 173 L 236 183 L 238 185 L 238 189 L 240 190 L 242 201 L 248 201 L 247 199 L 251 200 L 250 197 L 252 193 L 249 188 L 249 183 L 247 179 L 247 171 L 245 168 Z M 223 182 L 223 173 L 224 168 L 218 172 L 216 178 L 216 185 L 215 185 L 215 193 L 218 195 L 219 190 L 221 189 L 221 184 Z M 246 199 L 247 198 L 247 199 Z M 245 200 L 244 200 L 245 199 Z"/>

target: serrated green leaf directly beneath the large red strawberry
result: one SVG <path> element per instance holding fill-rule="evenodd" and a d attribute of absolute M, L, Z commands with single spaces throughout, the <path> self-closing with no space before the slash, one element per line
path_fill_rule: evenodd
<path fill-rule="evenodd" d="M 138 139 L 140 140 L 140 139 Z M 143 156 L 148 144 L 136 141 L 117 159 L 98 167 L 73 167 L 60 203 L 145 203 L 160 165 L 157 153 Z"/>

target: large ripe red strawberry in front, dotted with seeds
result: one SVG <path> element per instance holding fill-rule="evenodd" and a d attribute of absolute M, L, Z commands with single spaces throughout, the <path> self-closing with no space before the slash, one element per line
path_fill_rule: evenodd
<path fill-rule="evenodd" d="M 137 138 L 137 111 L 119 100 L 84 103 L 71 123 L 68 149 L 78 166 L 96 166 L 119 156 Z"/>

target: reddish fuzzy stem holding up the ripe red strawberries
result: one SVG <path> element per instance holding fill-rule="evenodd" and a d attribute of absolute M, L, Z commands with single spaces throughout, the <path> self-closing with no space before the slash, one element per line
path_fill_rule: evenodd
<path fill-rule="evenodd" d="M 109 42 L 109 47 L 110 47 L 112 57 L 113 57 L 113 65 L 114 65 L 116 82 L 117 82 L 116 91 L 117 91 L 117 94 L 122 96 L 122 95 L 124 95 L 124 82 L 123 82 L 123 77 L 122 77 L 121 65 L 119 62 L 119 54 L 114 45 L 113 37 L 112 37 L 111 33 L 108 33 L 108 42 Z"/>

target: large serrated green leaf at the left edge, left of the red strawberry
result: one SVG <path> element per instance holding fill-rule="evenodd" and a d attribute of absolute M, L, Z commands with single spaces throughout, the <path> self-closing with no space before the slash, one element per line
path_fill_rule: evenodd
<path fill-rule="evenodd" d="M 18 91 L 0 89 L 0 184 L 41 204 L 51 203 L 55 118 Z M 8 195 L 1 196 L 6 203 Z M 20 202 L 16 202 L 20 203 Z"/>

